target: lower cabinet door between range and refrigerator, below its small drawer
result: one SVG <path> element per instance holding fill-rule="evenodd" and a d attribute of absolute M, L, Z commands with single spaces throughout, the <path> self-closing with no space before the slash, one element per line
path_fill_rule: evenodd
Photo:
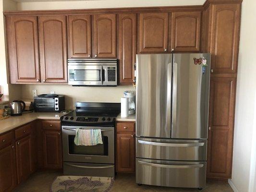
<path fill-rule="evenodd" d="M 134 172 L 135 170 L 134 132 L 117 134 L 117 172 Z"/>

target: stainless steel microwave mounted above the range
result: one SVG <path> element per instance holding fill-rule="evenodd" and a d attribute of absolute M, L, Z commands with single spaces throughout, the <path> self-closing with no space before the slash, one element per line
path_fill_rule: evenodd
<path fill-rule="evenodd" d="M 68 60 L 68 84 L 78 86 L 116 86 L 117 59 Z"/>

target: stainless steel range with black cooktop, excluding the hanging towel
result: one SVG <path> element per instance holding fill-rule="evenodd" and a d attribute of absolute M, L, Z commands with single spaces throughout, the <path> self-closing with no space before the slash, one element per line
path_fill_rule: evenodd
<path fill-rule="evenodd" d="M 115 118 L 120 103 L 76 102 L 76 110 L 62 118 L 63 174 L 115 175 Z M 103 144 L 74 144 L 77 129 L 100 129 Z"/>

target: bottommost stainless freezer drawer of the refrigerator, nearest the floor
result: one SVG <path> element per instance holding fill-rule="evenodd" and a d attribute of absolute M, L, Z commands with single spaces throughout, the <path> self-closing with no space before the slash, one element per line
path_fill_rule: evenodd
<path fill-rule="evenodd" d="M 206 162 L 136 158 L 136 183 L 204 188 L 206 186 Z"/>

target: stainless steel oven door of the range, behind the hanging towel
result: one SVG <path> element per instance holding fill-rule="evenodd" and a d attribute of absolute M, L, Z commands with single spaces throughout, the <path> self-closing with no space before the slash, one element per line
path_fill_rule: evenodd
<path fill-rule="evenodd" d="M 74 144 L 76 130 L 100 129 L 103 144 L 77 146 Z M 62 126 L 63 161 L 114 164 L 114 127 Z"/>

